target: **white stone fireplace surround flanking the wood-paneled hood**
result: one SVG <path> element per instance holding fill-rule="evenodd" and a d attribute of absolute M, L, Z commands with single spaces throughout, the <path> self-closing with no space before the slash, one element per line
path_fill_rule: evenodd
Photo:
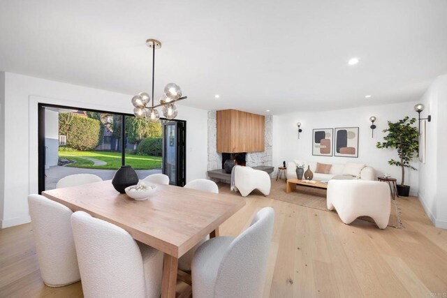
<path fill-rule="evenodd" d="M 255 167 L 258 165 L 272 165 L 272 115 L 265 116 L 264 151 L 247 152 L 246 165 Z M 217 121 L 216 111 L 208 111 L 208 170 L 221 169 L 222 156 L 217 152 Z"/>

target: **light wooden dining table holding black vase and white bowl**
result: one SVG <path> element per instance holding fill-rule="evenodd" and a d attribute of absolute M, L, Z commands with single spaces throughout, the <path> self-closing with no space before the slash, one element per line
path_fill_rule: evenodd
<path fill-rule="evenodd" d="M 207 234 L 219 236 L 219 225 L 244 207 L 245 200 L 236 195 L 156 185 L 156 192 L 142 201 L 118 193 L 110 180 L 43 191 L 42 195 L 73 211 L 85 211 L 113 223 L 133 239 L 163 251 L 161 297 L 175 297 L 179 258 Z"/>

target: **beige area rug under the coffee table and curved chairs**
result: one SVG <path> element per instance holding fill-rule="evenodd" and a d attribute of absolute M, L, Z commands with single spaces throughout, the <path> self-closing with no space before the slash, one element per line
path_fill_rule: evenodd
<path fill-rule="evenodd" d="M 230 191 L 229 184 L 219 183 L 219 191 L 221 193 L 233 193 L 235 195 L 240 195 L 240 193 Z M 254 191 L 249 196 L 262 197 L 263 195 L 258 191 Z M 268 195 L 268 198 L 288 202 L 291 204 L 297 204 L 302 207 L 314 208 L 321 211 L 336 212 L 328 210 L 328 207 L 326 205 L 325 189 L 314 188 L 310 186 L 297 186 L 297 191 L 286 193 L 286 183 L 284 182 L 284 180 L 276 181 L 272 179 L 272 188 L 270 190 L 270 195 Z M 370 218 L 369 216 L 361 216 L 358 219 L 374 223 L 372 218 Z M 402 219 L 400 216 L 400 208 L 397 200 L 391 200 L 391 212 L 388 227 L 402 229 Z"/>

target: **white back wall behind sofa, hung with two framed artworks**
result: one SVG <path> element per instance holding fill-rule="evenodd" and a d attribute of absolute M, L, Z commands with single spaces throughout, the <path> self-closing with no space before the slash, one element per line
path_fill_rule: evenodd
<path fill-rule="evenodd" d="M 362 100 L 362 99 L 360 99 Z M 376 142 L 383 140 L 383 129 L 388 127 L 387 121 L 397 121 L 404 116 L 417 117 L 413 110 L 416 103 L 398 103 L 393 105 L 375 105 L 346 110 L 325 112 L 293 112 L 274 116 L 273 121 L 273 165 L 282 165 L 282 161 L 302 159 L 322 163 L 366 163 L 374 167 L 376 175 L 390 173 L 400 183 L 400 167 L 388 165 L 391 158 L 397 158 L 397 151 L 376 149 Z M 374 137 L 369 126 L 369 117 L 376 116 Z M 297 122 L 302 123 L 302 133 L 298 139 Z M 335 156 L 312 156 L 312 129 L 359 127 L 358 158 Z M 415 160 L 413 166 L 418 167 Z M 418 191 L 418 172 L 406 170 L 405 184 L 411 186 L 411 193 Z"/>

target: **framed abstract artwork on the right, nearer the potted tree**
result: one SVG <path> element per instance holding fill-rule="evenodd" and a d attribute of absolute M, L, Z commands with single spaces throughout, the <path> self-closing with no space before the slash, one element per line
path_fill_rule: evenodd
<path fill-rule="evenodd" d="M 335 128 L 334 156 L 358 157 L 358 127 Z"/>

